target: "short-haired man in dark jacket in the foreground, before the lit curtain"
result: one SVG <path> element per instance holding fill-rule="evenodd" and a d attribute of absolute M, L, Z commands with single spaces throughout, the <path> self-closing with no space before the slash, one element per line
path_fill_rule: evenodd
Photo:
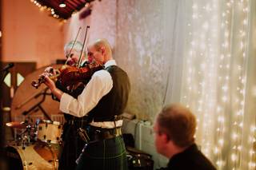
<path fill-rule="evenodd" d="M 154 124 L 157 152 L 169 158 L 161 170 L 215 170 L 194 143 L 196 120 L 182 105 L 167 105 Z"/>

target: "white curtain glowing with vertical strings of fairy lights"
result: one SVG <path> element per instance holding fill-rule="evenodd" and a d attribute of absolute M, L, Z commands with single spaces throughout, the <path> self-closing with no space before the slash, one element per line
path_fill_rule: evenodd
<path fill-rule="evenodd" d="M 197 116 L 197 143 L 218 169 L 255 169 L 256 128 L 245 122 L 250 0 L 193 0 L 191 11 L 182 103 Z"/>

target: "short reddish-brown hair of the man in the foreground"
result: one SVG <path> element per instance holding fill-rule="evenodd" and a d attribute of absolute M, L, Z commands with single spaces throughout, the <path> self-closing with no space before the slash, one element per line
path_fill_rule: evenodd
<path fill-rule="evenodd" d="M 196 120 L 186 107 L 178 104 L 167 105 L 159 113 L 157 121 L 160 130 L 178 147 L 194 143 Z"/>

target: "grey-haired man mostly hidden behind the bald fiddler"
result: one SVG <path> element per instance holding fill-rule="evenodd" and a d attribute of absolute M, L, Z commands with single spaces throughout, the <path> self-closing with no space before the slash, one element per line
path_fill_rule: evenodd
<path fill-rule="evenodd" d="M 72 49 L 73 46 L 73 49 Z M 82 52 L 81 42 L 68 42 L 64 46 L 64 54 L 67 58 L 66 63 L 70 66 L 78 64 L 80 54 L 82 53 L 82 66 L 86 64 L 86 55 Z M 56 74 L 52 67 L 47 67 L 45 73 Z M 83 84 L 75 85 L 73 87 L 63 87 L 60 81 L 56 81 L 55 85 L 58 89 L 62 89 L 63 92 L 69 93 L 72 97 L 78 97 L 78 94 L 82 93 L 84 89 Z M 63 125 L 62 132 L 62 153 L 59 160 L 58 169 L 75 169 L 78 156 L 82 152 L 82 148 L 85 142 L 78 136 L 78 128 L 84 128 L 86 125 L 86 117 L 74 117 L 70 114 L 64 113 L 65 124 Z"/>

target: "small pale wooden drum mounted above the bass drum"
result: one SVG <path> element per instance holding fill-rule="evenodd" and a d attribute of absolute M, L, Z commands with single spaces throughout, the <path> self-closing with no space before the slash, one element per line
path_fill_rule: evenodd
<path fill-rule="evenodd" d="M 38 140 L 58 144 L 62 135 L 62 125 L 58 121 L 44 121 L 38 124 Z"/>

